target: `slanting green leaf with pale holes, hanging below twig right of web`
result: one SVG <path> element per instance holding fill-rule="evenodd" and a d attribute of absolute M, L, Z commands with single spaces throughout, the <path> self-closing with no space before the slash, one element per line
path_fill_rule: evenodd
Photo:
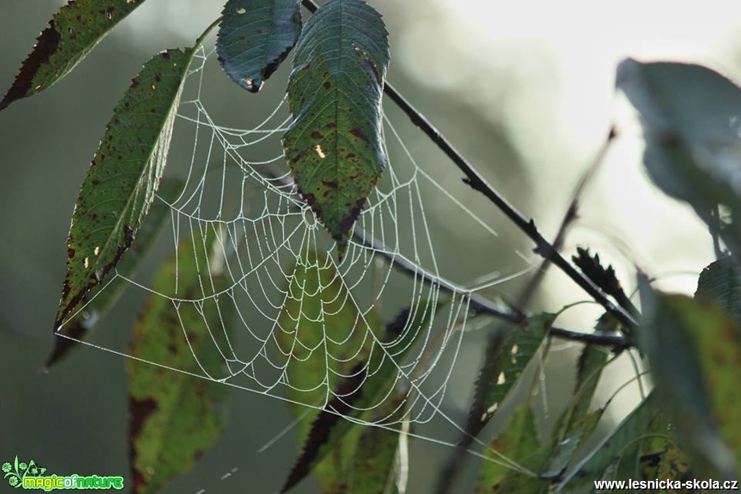
<path fill-rule="evenodd" d="M 487 351 L 479 370 L 465 428 L 467 434 L 478 435 L 496 413 L 499 404 L 539 350 L 555 319 L 555 314 L 548 313 L 532 316 L 527 327 L 515 327 L 506 341 L 490 344 L 490 347 L 497 348 Z"/>

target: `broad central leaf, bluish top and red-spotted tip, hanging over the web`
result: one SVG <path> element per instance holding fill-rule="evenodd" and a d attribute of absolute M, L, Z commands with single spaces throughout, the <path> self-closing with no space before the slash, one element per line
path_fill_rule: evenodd
<path fill-rule="evenodd" d="M 293 122 L 283 149 L 299 193 L 340 258 L 385 167 L 381 96 L 389 52 L 379 13 L 330 0 L 306 22 L 288 81 Z"/>

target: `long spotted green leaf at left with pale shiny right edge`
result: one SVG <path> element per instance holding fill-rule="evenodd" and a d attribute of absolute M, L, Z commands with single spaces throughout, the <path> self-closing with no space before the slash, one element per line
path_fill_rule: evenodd
<path fill-rule="evenodd" d="M 116 267 L 147 216 L 193 52 L 153 56 L 113 110 L 72 216 L 55 330 Z"/>

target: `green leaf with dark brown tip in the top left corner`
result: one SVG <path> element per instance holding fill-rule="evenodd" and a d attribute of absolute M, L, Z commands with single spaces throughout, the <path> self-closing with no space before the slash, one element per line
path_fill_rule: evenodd
<path fill-rule="evenodd" d="M 3 110 L 33 96 L 70 73 L 116 24 L 144 0 L 76 0 L 54 14 L 0 101 Z"/>

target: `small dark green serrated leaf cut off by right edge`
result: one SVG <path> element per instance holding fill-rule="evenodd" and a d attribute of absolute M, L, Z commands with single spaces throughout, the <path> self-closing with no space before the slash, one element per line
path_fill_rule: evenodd
<path fill-rule="evenodd" d="M 695 297 L 716 302 L 741 323 L 741 273 L 733 257 L 720 258 L 702 270 Z"/>

